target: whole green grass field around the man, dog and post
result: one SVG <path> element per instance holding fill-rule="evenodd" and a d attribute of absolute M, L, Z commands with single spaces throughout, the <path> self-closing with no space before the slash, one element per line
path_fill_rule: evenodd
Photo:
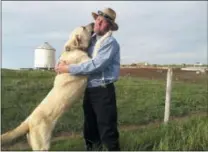
<path fill-rule="evenodd" d="M 49 92 L 53 80 L 54 73 L 48 71 L 2 70 L 1 131 L 24 120 Z M 121 130 L 122 150 L 208 150 L 207 115 L 201 116 L 208 109 L 207 84 L 173 82 L 171 117 L 186 119 L 167 126 L 158 123 L 164 115 L 165 87 L 165 80 L 138 77 L 121 77 L 116 83 L 119 128 L 126 127 Z M 193 113 L 198 116 L 189 119 Z M 80 134 L 82 123 L 82 102 L 78 101 L 59 120 L 54 136 Z M 153 125 L 130 129 L 149 123 Z M 159 126 L 155 129 L 154 124 Z M 83 150 L 83 146 L 78 136 L 54 142 L 52 150 Z"/>

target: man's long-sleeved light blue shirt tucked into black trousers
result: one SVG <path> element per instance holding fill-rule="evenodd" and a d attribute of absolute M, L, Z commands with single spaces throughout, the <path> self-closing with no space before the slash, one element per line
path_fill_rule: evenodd
<path fill-rule="evenodd" d="M 91 39 L 88 55 L 92 57 L 96 35 Z M 120 46 L 113 36 L 104 40 L 94 59 L 69 65 L 72 75 L 88 75 L 87 87 L 106 85 L 118 80 L 120 74 Z"/>

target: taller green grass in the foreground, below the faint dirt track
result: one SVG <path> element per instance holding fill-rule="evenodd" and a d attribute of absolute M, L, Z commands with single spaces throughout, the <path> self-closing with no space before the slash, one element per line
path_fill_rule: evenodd
<path fill-rule="evenodd" d="M 208 150 L 208 119 L 193 117 L 159 127 L 120 131 L 120 144 L 123 151 Z M 82 137 L 59 140 L 53 142 L 51 150 L 82 151 L 84 141 Z"/>

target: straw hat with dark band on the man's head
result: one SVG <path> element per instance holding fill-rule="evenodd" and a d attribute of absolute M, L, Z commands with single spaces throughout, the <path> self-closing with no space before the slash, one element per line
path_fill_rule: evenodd
<path fill-rule="evenodd" d="M 113 25 L 112 31 L 117 31 L 118 30 L 118 25 L 115 23 L 116 19 L 116 12 L 111 9 L 111 8 L 105 8 L 103 11 L 98 11 L 98 13 L 92 12 L 93 18 L 96 20 L 98 16 L 103 16 L 105 19 L 111 22 Z"/>

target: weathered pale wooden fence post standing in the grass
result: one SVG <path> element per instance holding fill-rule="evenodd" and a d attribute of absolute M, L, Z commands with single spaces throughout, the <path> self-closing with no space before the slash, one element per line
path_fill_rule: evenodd
<path fill-rule="evenodd" d="M 166 84 L 166 97 L 165 97 L 165 113 L 164 113 L 164 123 L 169 121 L 170 117 L 170 101 L 171 101 L 171 90 L 172 90 L 172 68 L 168 68 L 167 71 L 167 84 Z"/>

